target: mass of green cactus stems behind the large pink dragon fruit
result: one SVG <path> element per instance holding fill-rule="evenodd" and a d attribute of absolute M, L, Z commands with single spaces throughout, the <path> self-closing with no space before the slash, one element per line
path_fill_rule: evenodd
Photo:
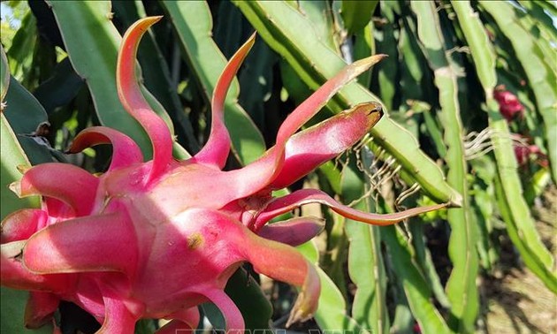
<path fill-rule="evenodd" d="M 206 140 L 225 57 L 256 30 L 226 102 L 228 168 L 260 156 L 287 113 L 343 65 L 384 53 L 389 57 L 344 88 L 315 122 L 370 100 L 383 103 L 388 118 L 295 187 L 320 187 L 377 212 L 462 204 L 380 228 L 310 207 L 326 218 L 325 232 L 299 249 L 321 266 L 323 292 L 315 322 L 291 330 L 488 332 L 493 282 L 523 268 L 537 288 L 521 293 L 550 300 L 549 324 L 525 323 L 555 330 L 554 211 L 535 219 L 548 198 L 554 205 L 557 180 L 554 2 L 3 1 L 2 217 L 38 203 L 7 188 L 20 164 L 61 161 L 94 172 L 108 166 L 110 148 L 65 155 L 88 126 L 117 128 L 149 156 L 114 77 L 120 34 L 147 15 L 164 19 L 141 43 L 143 83 L 172 126 L 176 156 L 195 153 Z M 227 292 L 251 330 L 284 328 L 295 295 L 248 267 Z M 25 293 L 2 289 L 3 332 L 23 332 L 25 302 Z M 223 328 L 215 307 L 202 312 Z M 65 303 L 57 319 L 65 333 L 98 327 Z M 136 331 L 156 326 L 146 320 Z"/>

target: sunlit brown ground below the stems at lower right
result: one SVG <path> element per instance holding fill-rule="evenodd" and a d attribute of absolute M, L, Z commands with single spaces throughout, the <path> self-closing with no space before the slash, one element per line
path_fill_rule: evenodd
<path fill-rule="evenodd" d="M 557 254 L 557 187 L 551 186 L 533 209 L 538 232 Z M 485 279 L 484 328 L 489 334 L 557 333 L 557 296 L 523 265 L 505 263 L 496 278 Z M 519 269 L 520 268 L 520 269 Z"/>

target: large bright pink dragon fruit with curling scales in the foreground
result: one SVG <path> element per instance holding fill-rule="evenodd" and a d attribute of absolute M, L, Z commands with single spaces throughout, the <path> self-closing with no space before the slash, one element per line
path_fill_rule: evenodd
<path fill-rule="evenodd" d="M 108 171 L 96 176 L 70 164 L 43 163 L 11 185 L 20 197 L 42 196 L 41 209 L 19 210 L 2 222 L 1 283 L 30 291 L 27 327 L 50 322 L 59 301 L 69 300 L 102 323 L 99 333 L 133 333 L 141 318 L 171 320 L 159 330 L 170 333 L 195 328 L 197 306 L 211 301 L 227 329 L 243 331 L 242 315 L 224 292 L 242 262 L 298 286 L 288 324 L 304 321 L 317 309 L 320 284 L 313 264 L 293 246 L 316 236 L 323 223 L 297 217 L 267 224 L 271 219 L 318 202 L 351 219 L 385 225 L 446 206 L 377 215 L 314 189 L 271 196 L 353 146 L 378 122 L 380 106 L 366 102 L 298 132 L 381 55 L 347 65 L 317 89 L 286 118 L 276 145 L 256 162 L 222 171 L 231 145 L 223 117 L 225 95 L 254 43 L 252 36 L 217 81 L 206 145 L 185 161 L 174 160 L 172 135 L 141 95 L 134 72 L 141 35 L 159 19 L 141 19 L 128 29 L 117 68 L 118 96 L 149 134 L 153 159 L 144 162 L 126 134 L 96 126 L 81 132 L 70 152 L 111 143 Z"/>

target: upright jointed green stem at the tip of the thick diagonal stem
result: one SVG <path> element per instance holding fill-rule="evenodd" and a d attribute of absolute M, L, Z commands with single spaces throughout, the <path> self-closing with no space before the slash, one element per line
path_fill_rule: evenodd
<path fill-rule="evenodd" d="M 446 42 L 440 27 L 439 16 L 433 3 L 416 2 L 412 4 L 416 12 L 418 40 L 425 50 L 431 70 L 433 83 L 439 89 L 439 115 L 446 145 L 447 182 L 462 194 L 462 208 L 451 209 L 447 213 L 451 225 L 448 254 L 453 262 L 453 271 L 446 282 L 446 293 L 451 304 L 452 330 L 471 332 L 478 310 L 477 277 L 477 232 L 476 225 L 470 221 L 466 178 L 466 162 L 462 143 L 461 106 L 458 101 L 457 61 L 447 57 Z"/>

